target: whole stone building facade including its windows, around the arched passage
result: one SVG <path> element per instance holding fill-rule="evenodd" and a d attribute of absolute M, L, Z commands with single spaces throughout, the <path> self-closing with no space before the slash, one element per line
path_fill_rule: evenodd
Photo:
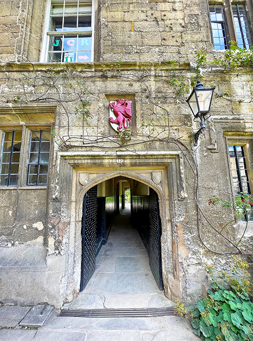
<path fill-rule="evenodd" d="M 204 263 L 228 269 L 234 253 L 247 258 L 250 214 L 237 221 L 233 204 L 208 200 L 252 191 L 251 68 L 208 63 L 223 58 L 229 40 L 251 45 L 251 6 L 0 1 L 0 301 L 59 308 L 76 297 L 83 198 L 94 186 L 103 212 L 98 250 L 125 187 L 143 231 L 140 217 L 149 217 L 145 203 L 156 193 L 161 278 L 170 299 L 202 295 Z M 197 64 L 201 49 L 207 62 Z M 216 90 L 195 146 L 199 123 L 185 100 L 198 76 Z M 117 99 L 132 103 L 125 131 L 109 121 Z"/>

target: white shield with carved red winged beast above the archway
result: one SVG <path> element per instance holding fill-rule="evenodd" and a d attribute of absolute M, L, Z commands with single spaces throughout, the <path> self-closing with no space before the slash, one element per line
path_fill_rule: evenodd
<path fill-rule="evenodd" d="M 132 102 L 121 98 L 120 100 L 117 99 L 116 102 L 110 102 L 109 105 L 115 116 L 115 119 L 109 118 L 110 122 L 118 124 L 117 130 L 128 129 L 132 121 Z M 115 127 L 113 129 L 116 130 Z"/>

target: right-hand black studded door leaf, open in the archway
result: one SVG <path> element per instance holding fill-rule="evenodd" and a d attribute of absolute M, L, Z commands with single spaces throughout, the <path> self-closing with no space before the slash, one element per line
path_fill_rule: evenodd
<path fill-rule="evenodd" d="M 159 214 L 159 202 L 156 192 L 149 188 L 149 262 L 160 290 L 163 288 L 161 272 L 161 222 Z"/>

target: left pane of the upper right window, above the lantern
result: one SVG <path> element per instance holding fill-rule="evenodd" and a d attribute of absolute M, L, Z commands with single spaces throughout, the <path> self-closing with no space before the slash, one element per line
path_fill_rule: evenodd
<path fill-rule="evenodd" d="M 225 17 L 222 5 L 209 6 L 213 42 L 215 50 L 228 49 L 228 39 L 225 27 Z"/>

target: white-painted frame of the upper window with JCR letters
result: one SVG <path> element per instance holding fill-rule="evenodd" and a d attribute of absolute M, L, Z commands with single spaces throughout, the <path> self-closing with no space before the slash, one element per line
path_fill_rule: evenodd
<path fill-rule="evenodd" d="M 61 4 L 64 0 L 55 0 L 54 3 L 57 4 Z M 77 0 L 76 0 L 77 1 Z M 79 0 L 78 0 L 79 1 Z M 66 0 L 67 2 L 67 0 Z M 71 1 L 70 1 L 71 2 Z M 59 35 L 60 34 L 64 34 L 64 32 L 68 32 L 69 34 L 87 34 L 88 32 L 91 32 L 91 38 L 92 38 L 92 48 L 91 48 L 91 61 L 90 63 L 94 62 L 94 35 L 95 35 L 95 0 L 87 0 L 87 3 L 92 4 L 92 13 L 91 13 L 91 19 L 92 19 L 92 23 L 91 23 L 91 31 L 59 31 Z M 40 63 L 57 63 L 57 62 L 48 62 L 48 52 L 49 52 L 49 40 L 50 40 L 50 35 L 53 35 L 53 33 L 57 33 L 56 31 L 49 31 L 50 28 L 50 14 L 51 14 L 51 4 L 52 4 L 52 0 L 47 0 L 47 4 L 46 4 L 46 14 L 45 14 L 45 27 L 44 27 L 44 34 L 43 34 L 43 46 L 41 49 L 41 55 L 40 55 Z M 49 34 L 50 33 L 50 34 Z M 57 35 L 57 34 L 56 34 Z M 64 61 L 62 61 L 61 63 L 65 63 Z M 87 63 L 87 62 L 75 62 L 75 63 Z"/>

